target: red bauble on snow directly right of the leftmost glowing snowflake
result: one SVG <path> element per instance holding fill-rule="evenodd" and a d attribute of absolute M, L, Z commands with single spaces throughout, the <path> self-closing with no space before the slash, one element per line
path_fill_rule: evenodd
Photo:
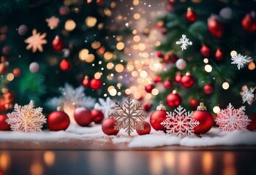
<path fill-rule="evenodd" d="M 64 112 L 64 104 L 58 107 L 57 111 L 51 112 L 47 118 L 47 124 L 50 131 L 66 130 L 69 127 L 70 119 L 66 112 Z"/>

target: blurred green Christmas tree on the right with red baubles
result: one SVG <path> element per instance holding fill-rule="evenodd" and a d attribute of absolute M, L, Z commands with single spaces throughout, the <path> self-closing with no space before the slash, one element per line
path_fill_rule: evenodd
<path fill-rule="evenodd" d="M 157 103 L 195 109 L 204 99 L 217 112 L 244 102 L 247 112 L 256 112 L 255 7 L 253 0 L 170 0 L 167 14 L 157 19 L 165 34 L 157 55 L 167 67 L 159 74 L 165 90 Z"/>

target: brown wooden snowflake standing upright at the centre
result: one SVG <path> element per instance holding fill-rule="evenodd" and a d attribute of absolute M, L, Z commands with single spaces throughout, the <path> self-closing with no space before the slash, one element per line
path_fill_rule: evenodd
<path fill-rule="evenodd" d="M 146 113 L 143 112 L 142 104 L 133 104 L 128 97 L 125 104 L 116 102 L 116 112 L 111 117 L 117 121 L 115 129 L 124 128 L 130 136 L 137 127 L 143 129 L 142 121 L 146 118 Z"/>

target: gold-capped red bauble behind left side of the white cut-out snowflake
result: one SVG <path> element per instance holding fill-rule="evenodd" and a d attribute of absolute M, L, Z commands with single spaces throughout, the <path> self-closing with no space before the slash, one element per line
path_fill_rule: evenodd
<path fill-rule="evenodd" d="M 161 125 L 162 121 L 166 119 L 166 108 L 160 102 L 159 106 L 157 106 L 157 111 L 152 112 L 150 116 L 150 124 L 154 130 L 157 131 L 166 131 L 166 128 Z"/>

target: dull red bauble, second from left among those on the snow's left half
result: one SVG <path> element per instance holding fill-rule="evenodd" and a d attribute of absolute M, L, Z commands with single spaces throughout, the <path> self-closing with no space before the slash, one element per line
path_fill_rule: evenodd
<path fill-rule="evenodd" d="M 74 112 L 74 119 L 80 126 L 89 126 L 92 122 L 91 111 L 83 107 L 77 108 Z"/>

